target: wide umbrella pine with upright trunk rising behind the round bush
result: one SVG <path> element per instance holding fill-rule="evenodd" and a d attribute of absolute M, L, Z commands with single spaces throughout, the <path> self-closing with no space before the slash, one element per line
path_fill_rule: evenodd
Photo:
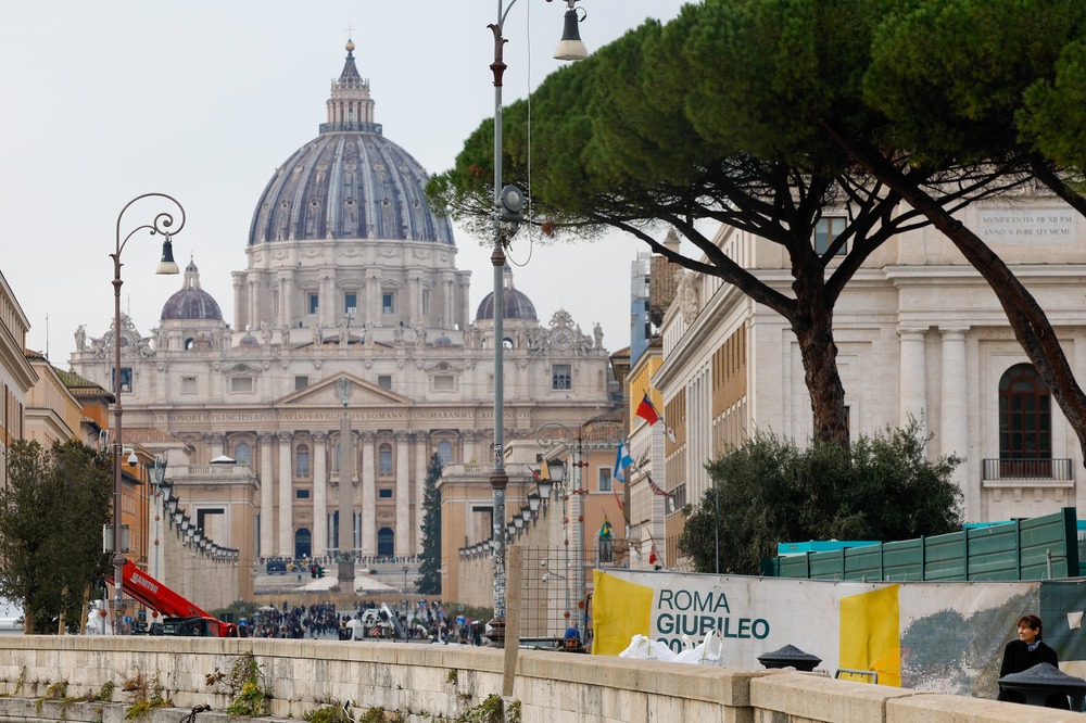
<path fill-rule="evenodd" d="M 555 73 L 530 105 L 503 114 L 504 175 L 530 191 L 544 232 L 626 231 L 787 319 L 819 442 L 848 444 L 836 302 L 882 243 L 927 223 L 824 127 L 869 128 L 881 117 L 863 102 L 862 69 L 874 28 L 899 4 L 706 0 Z M 455 167 L 428 187 L 431 200 L 483 234 L 493 205 L 492 134 L 493 122 L 483 123 Z M 936 186 L 944 206 L 988 192 L 987 177 L 950 187 L 937 170 L 920 169 L 913 180 Z M 836 240 L 817 252 L 823 213 L 846 206 Z M 762 239 L 758 259 L 775 266 L 784 258 L 791 278 L 745 268 L 702 221 Z M 661 245 L 654 224 L 677 228 L 696 253 Z"/>

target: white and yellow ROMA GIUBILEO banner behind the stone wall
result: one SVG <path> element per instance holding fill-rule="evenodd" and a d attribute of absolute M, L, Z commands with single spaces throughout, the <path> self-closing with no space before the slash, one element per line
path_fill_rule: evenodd
<path fill-rule="evenodd" d="M 821 658 L 819 669 L 830 675 L 871 671 L 882 685 L 986 698 L 996 695 L 1002 649 L 1022 614 L 1041 616 L 1045 640 L 1068 672 L 1086 656 L 1076 623 L 1086 586 L 1072 583 L 862 583 L 648 570 L 596 570 L 594 581 L 595 655 L 617 656 L 639 634 L 679 651 L 717 630 L 720 664 L 728 668 L 760 670 L 758 656 L 793 645 Z"/>

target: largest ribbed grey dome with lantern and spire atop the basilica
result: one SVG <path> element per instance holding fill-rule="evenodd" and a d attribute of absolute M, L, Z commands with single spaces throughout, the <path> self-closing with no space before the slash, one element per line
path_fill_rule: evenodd
<path fill-rule="evenodd" d="M 430 241 L 453 245 L 452 225 L 427 205 L 429 176 L 374 123 L 369 80 L 354 43 L 332 81 L 328 123 L 294 152 L 261 195 L 249 244 L 324 239 Z"/>

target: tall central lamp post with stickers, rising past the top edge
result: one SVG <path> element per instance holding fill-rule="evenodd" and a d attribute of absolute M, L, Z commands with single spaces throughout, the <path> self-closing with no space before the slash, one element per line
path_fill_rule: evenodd
<path fill-rule="evenodd" d="M 551 2 L 552 0 L 547 0 Z M 588 56 L 584 43 L 577 33 L 578 15 L 574 4 L 578 0 L 565 0 L 566 27 L 555 58 L 559 60 L 582 60 Z M 505 18 L 517 0 L 497 0 L 497 22 L 488 25 L 494 34 L 494 62 L 490 69 L 494 74 L 494 251 L 490 263 L 494 267 L 494 471 L 490 475 L 494 510 L 491 520 L 491 549 L 494 556 L 494 619 L 491 620 L 491 640 L 505 640 L 505 490 L 509 475 L 505 471 L 505 246 L 517 232 L 523 220 L 520 212 L 525 206 L 525 194 L 516 186 L 502 186 L 502 76 L 508 67 L 503 60 L 507 40 L 502 31 Z M 573 15 L 570 25 L 569 15 Z M 583 20 L 583 11 L 582 17 Z M 570 37 L 567 37 L 570 36 Z M 576 36 L 576 42 L 574 37 Z M 568 41 L 568 42 L 567 42 Z M 577 48 L 576 43 L 580 43 Z M 565 52 L 564 52 L 565 51 Z"/>

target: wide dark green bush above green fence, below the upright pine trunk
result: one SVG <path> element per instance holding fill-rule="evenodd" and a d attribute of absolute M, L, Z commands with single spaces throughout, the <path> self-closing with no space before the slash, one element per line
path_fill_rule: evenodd
<path fill-rule="evenodd" d="M 708 465 L 712 489 L 690 508 L 680 550 L 702 572 L 756 574 L 776 544 L 807 540 L 911 540 L 961 528 L 957 457 L 930 461 L 919 426 L 861 436 L 850 448 L 799 448 L 758 433 Z"/>

